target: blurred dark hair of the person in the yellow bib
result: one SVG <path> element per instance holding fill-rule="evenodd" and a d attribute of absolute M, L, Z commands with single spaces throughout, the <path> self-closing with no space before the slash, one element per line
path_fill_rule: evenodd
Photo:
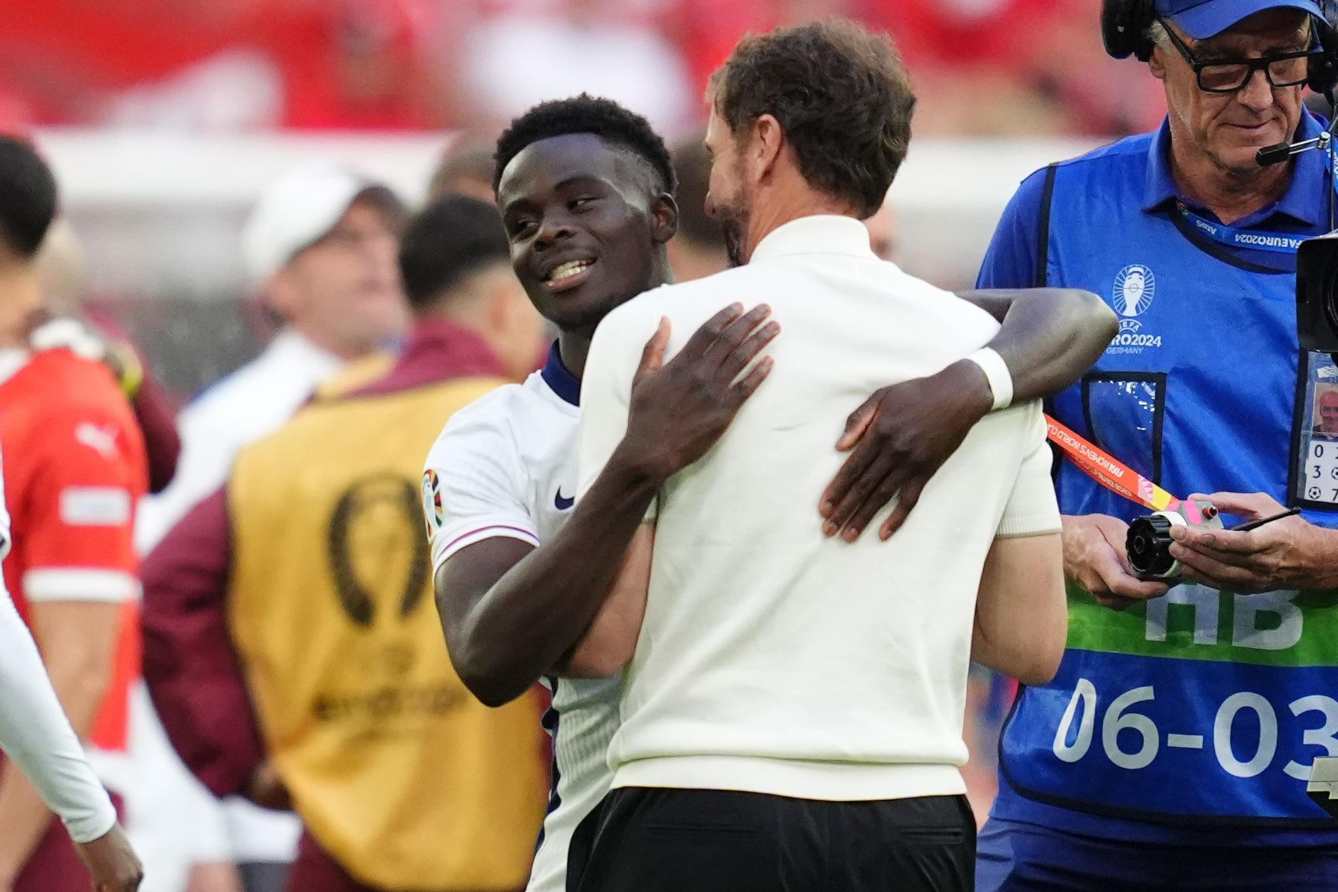
<path fill-rule="evenodd" d="M 443 195 L 404 229 L 400 275 L 409 306 L 421 310 L 467 277 L 510 261 L 502 215 L 488 202 Z"/>

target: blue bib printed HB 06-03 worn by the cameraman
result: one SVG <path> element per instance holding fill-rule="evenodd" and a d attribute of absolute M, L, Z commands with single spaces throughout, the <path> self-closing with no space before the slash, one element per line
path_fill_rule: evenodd
<path fill-rule="evenodd" d="M 1120 317 L 1096 368 L 1049 409 L 1173 495 L 1262 491 L 1338 527 L 1338 472 L 1323 492 L 1306 476 L 1307 463 L 1329 472 L 1317 388 L 1338 368 L 1301 352 L 1293 245 L 1327 227 L 1272 233 L 1176 202 L 1149 210 L 1153 139 L 1048 174 L 1044 284 L 1096 292 Z M 1295 174 L 1313 181 L 1295 186 L 1313 190 L 1325 221 L 1326 167 Z M 1338 461 L 1338 440 L 1330 449 Z M 1143 514 L 1066 461 L 1056 485 L 1066 515 Z M 1338 754 L 1338 596 L 1181 584 L 1117 612 L 1070 584 L 1069 608 L 1058 675 L 1025 689 L 1005 726 L 997 814 L 1053 824 L 1061 806 L 1113 825 L 1314 828 L 1338 841 L 1306 797 L 1311 761 Z"/>

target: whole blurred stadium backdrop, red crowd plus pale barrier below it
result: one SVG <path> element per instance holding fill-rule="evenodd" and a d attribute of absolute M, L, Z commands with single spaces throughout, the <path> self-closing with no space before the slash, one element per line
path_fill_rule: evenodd
<path fill-rule="evenodd" d="M 1018 181 L 1149 130 L 1160 84 L 1101 51 L 1098 0 L 0 0 L 0 127 L 62 186 L 55 253 L 179 400 L 272 328 L 238 235 L 261 187 L 334 158 L 420 201 L 452 143 L 586 90 L 666 138 L 702 126 L 705 80 L 748 31 L 824 15 L 888 29 L 921 96 L 892 187 L 895 258 L 967 286 Z M 991 789 L 989 719 L 977 687 Z M 981 730 L 983 729 L 983 730 Z"/>

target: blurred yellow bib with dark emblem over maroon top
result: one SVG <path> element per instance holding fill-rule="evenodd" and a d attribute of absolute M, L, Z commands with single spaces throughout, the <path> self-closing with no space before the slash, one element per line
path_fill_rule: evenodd
<path fill-rule="evenodd" d="M 442 425 L 499 384 L 317 401 L 229 484 L 229 621 L 266 746 L 369 885 L 520 888 L 543 818 L 539 706 L 487 709 L 456 677 L 419 496 Z"/>

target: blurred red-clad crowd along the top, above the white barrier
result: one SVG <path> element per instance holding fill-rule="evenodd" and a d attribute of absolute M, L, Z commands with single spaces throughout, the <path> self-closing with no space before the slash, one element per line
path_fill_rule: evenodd
<path fill-rule="evenodd" d="M 1124 135 L 1160 91 L 1105 59 L 1098 0 L 0 0 L 0 124 L 491 130 L 581 90 L 666 136 L 749 31 L 895 35 L 919 135 Z"/>

